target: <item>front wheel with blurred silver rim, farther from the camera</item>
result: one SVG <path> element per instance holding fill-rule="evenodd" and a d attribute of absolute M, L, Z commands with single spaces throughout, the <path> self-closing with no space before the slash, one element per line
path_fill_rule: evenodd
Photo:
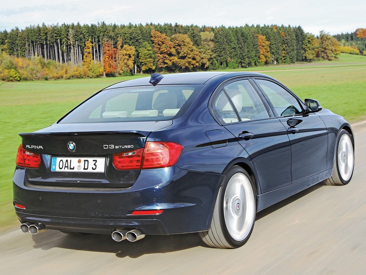
<path fill-rule="evenodd" d="M 352 179 L 355 166 L 354 143 L 349 132 L 342 129 L 334 156 L 333 173 L 325 180 L 326 185 L 346 185 Z"/>

